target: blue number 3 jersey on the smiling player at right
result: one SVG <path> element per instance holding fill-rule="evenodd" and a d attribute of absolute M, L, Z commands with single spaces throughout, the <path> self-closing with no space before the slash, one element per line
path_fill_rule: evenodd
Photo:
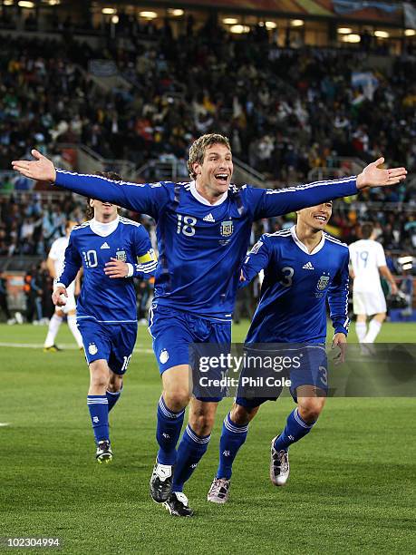
<path fill-rule="evenodd" d="M 262 235 L 247 255 L 244 287 L 264 269 L 247 343 L 324 343 L 328 299 L 335 333 L 348 333 L 348 247 L 327 233 L 309 254 L 295 226 Z"/>

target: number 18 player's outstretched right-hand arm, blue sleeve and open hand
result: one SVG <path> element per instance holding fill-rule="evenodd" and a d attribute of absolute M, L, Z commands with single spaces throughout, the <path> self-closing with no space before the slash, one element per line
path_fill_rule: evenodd
<path fill-rule="evenodd" d="M 373 161 L 356 178 L 314 181 L 285 189 L 250 188 L 249 194 L 254 196 L 254 219 L 279 216 L 308 206 L 316 206 L 327 200 L 356 195 L 359 190 L 367 187 L 388 187 L 406 178 L 405 168 L 383 170 L 379 167 L 383 162 L 383 158 Z"/>

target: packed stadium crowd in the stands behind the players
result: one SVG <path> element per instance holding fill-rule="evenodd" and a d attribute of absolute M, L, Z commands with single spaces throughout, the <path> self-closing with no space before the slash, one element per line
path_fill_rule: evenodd
<path fill-rule="evenodd" d="M 33 147 L 57 157 L 57 145 L 72 142 L 138 167 L 167 155 L 185 167 L 193 138 L 217 131 L 230 138 L 237 158 L 275 187 L 305 181 L 310 170 L 339 157 L 372 161 L 383 153 L 410 174 L 416 171 L 411 57 L 392 59 L 390 71 L 381 73 L 372 71 L 363 51 L 282 49 L 260 27 L 237 38 L 212 21 L 198 34 L 190 22 L 178 38 L 168 23 L 151 40 L 141 31 L 130 32 L 131 47 L 109 42 L 104 53 L 71 35 L 66 42 L 6 40 L 0 52 L 0 167 L 29 156 Z M 116 63 L 128 89 L 104 91 L 85 71 L 86 60 L 103 56 Z M 353 84 L 356 70 L 371 72 L 370 78 Z M 8 174 L 0 180 L 0 190 L 9 191 L 0 195 L 0 256 L 45 258 L 65 220 L 83 219 L 83 200 L 22 192 L 32 186 Z M 365 200 L 371 204 L 336 203 L 334 232 L 351 242 L 360 222 L 376 221 L 394 267 L 394 258 L 416 250 L 416 191 L 372 190 Z M 150 219 L 127 215 L 142 221 L 154 239 Z M 293 219 L 258 223 L 252 244 Z"/>

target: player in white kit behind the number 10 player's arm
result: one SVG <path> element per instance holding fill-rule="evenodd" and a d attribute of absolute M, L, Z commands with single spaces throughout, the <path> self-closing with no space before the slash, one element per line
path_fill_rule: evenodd
<path fill-rule="evenodd" d="M 48 258 L 46 260 L 46 266 L 53 277 L 60 276 L 63 271 L 63 260 L 65 258 L 65 249 L 68 247 L 69 236 L 71 229 L 75 224 L 72 221 L 67 221 L 65 224 L 65 237 L 60 237 L 53 241 L 51 250 L 49 251 Z M 78 279 L 78 277 L 77 277 Z M 68 293 L 68 298 L 66 298 L 66 304 L 64 307 L 55 307 L 55 312 L 49 322 L 48 335 L 44 340 L 44 352 L 55 353 L 61 349 L 55 345 L 55 337 L 58 334 L 59 328 L 63 322 L 63 316 L 66 315 L 68 326 L 73 333 L 75 341 L 80 349 L 82 349 L 82 336 L 78 331 L 76 326 L 76 302 L 75 302 L 75 281 L 66 289 Z"/>

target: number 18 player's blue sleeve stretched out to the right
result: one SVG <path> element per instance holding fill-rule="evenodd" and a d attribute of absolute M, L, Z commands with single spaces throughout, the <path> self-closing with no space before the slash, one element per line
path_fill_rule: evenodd
<path fill-rule="evenodd" d="M 247 187 L 247 204 L 252 207 L 253 218 L 272 218 L 294 210 L 316 206 L 328 200 L 349 197 L 358 193 L 356 178 L 314 181 L 285 189 L 257 189 Z"/>

